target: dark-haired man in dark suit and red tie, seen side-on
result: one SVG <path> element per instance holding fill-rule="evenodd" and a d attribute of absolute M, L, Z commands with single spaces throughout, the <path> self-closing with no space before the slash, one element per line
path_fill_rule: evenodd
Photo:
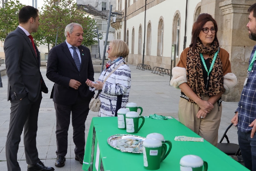
<path fill-rule="evenodd" d="M 19 26 L 4 41 L 8 97 L 11 103 L 10 126 L 6 139 L 8 171 L 21 171 L 17 152 L 24 128 L 25 156 L 28 171 L 53 171 L 38 158 L 36 147 L 37 119 L 42 93 L 48 93 L 40 72 L 40 56 L 32 32 L 39 26 L 38 10 L 24 6 L 19 12 Z"/>

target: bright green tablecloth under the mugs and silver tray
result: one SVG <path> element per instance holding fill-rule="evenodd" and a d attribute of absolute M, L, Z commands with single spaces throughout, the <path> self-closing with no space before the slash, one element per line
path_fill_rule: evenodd
<path fill-rule="evenodd" d="M 95 150 L 94 159 L 91 162 L 93 128 L 95 128 Z M 161 163 L 159 171 L 179 171 L 180 159 L 184 155 L 190 154 L 198 155 L 204 161 L 207 161 L 208 171 L 248 171 L 243 165 L 205 140 L 204 142 L 174 141 L 175 136 L 181 135 L 200 137 L 175 119 L 155 120 L 145 118 L 145 124 L 135 135 L 146 137 L 149 133 L 161 133 L 165 140 L 172 143 L 171 152 Z M 143 167 L 142 153 L 123 153 L 108 145 L 107 138 L 115 134 L 128 134 L 126 130 L 118 129 L 117 117 L 94 117 L 92 119 L 86 142 L 83 170 L 101 171 L 101 165 L 105 171 L 147 171 Z M 97 166 L 97 169 L 95 166 Z"/>

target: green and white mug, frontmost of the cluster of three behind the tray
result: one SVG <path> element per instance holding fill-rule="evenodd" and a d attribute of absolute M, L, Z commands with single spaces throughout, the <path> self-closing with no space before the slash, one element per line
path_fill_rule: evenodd
<path fill-rule="evenodd" d="M 131 134 L 136 134 L 141 129 L 145 122 L 145 118 L 140 116 L 137 112 L 127 112 L 126 115 L 126 132 Z M 142 119 L 140 127 L 138 127 L 139 119 Z"/>

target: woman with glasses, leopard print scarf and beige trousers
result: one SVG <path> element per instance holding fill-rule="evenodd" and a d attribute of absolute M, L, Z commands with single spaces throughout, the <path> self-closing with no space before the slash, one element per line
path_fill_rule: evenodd
<path fill-rule="evenodd" d="M 181 89 L 178 116 L 181 123 L 217 146 L 221 122 L 221 95 L 237 84 L 229 53 L 219 47 L 217 23 L 200 14 L 193 24 L 189 48 L 173 68 L 171 86 Z"/>

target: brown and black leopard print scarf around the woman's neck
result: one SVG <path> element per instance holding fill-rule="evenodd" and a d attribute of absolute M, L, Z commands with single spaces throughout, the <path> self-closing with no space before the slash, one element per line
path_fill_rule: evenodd
<path fill-rule="evenodd" d="M 207 91 L 205 88 L 205 82 L 203 77 L 203 71 L 201 65 L 201 58 L 200 53 L 210 54 L 210 63 L 213 61 L 213 56 L 215 52 L 218 50 L 219 44 L 217 41 L 214 41 L 211 47 L 206 48 L 200 43 L 199 41 L 196 43 L 196 47 L 192 50 L 192 47 L 189 48 L 187 54 L 187 80 L 188 86 L 196 93 L 196 95 L 200 98 L 201 95 L 204 96 L 213 96 L 217 95 L 218 93 L 224 91 L 223 86 L 223 67 L 222 62 L 217 55 L 215 63 L 213 65 L 213 69 L 209 74 L 209 90 Z M 188 101 L 193 102 L 191 99 Z"/>

